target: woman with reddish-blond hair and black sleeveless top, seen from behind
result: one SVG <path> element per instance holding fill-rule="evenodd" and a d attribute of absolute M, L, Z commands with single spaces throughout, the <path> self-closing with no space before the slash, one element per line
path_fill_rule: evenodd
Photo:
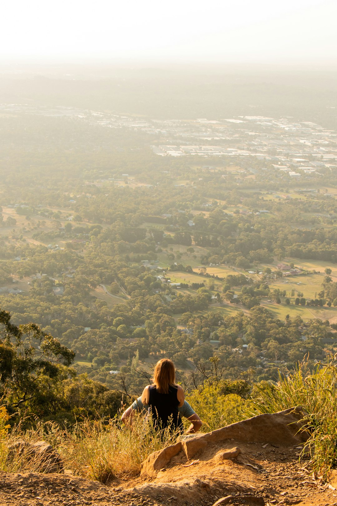
<path fill-rule="evenodd" d="M 184 403 L 184 391 L 175 383 L 175 368 L 172 360 L 162 358 L 155 366 L 153 385 L 148 385 L 141 394 L 141 402 L 149 404 L 157 430 L 169 428 L 182 430 L 178 408 Z"/>

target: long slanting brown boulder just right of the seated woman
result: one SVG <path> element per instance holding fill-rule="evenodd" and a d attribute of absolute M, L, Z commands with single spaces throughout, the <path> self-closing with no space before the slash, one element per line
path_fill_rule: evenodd
<path fill-rule="evenodd" d="M 222 429 L 198 434 L 163 450 L 156 451 L 142 463 L 141 476 L 155 477 L 167 466 L 171 458 L 183 450 L 187 460 L 209 443 L 218 443 L 228 439 L 243 442 L 269 443 L 276 446 L 293 446 L 308 439 L 308 433 L 301 430 L 302 412 L 290 408 L 277 413 L 265 413 L 253 416 Z"/>

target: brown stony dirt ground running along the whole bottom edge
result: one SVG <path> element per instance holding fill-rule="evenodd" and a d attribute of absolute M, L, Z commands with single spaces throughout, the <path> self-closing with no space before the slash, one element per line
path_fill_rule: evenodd
<path fill-rule="evenodd" d="M 337 506 L 337 490 L 298 460 L 299 448 L 228 441 L 241 453 L 217 462 L 209 445 L 194 459 L 181 454 L 153 480 L 115 480 L 107 485 L 64 474 L 0 474 L 1 506 Z M 223 449 L 223 448 L 222 448 Z M 211 458 L 210 458 L 211 457 Z M 192 463 L 194 462 L 194 463 Z M 189 465 L 188 465 L 189 464 Z"/>

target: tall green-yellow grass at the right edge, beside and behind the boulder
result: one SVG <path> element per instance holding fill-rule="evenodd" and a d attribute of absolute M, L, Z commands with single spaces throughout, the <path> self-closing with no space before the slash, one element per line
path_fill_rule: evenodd
<path fill-rule="evenodd" d="M 260 385 L 250 414 L 294 406 L 302 407 L 303 430 L 310 434 L 302 454 L 309 453 L 314 471 L 326 478 L 337 465 L 337 355 L 313 371 L 303 361 L 294 373 L 279 374 L 276 386 Z"/>

